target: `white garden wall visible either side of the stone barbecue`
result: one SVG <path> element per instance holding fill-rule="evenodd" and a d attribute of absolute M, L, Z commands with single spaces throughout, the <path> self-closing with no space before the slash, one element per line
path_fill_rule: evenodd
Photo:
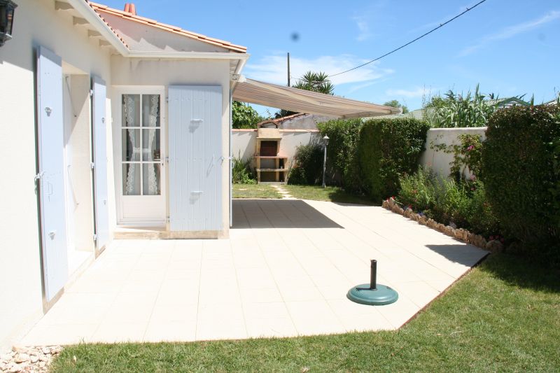
<path fill-rule="evenodd" d="M 320 140 L 320 134 L 313 129 L 281 129 L 282 139 L 280 141 L 280 154 L 288 156 L 288 165 L 291 164 L 293 156 L 300 145 L 307 145 Z M 255 155 L 256 129 L 232 129 L 232 153 L 234 157 L 241 156 L 242 160 L 248 160 Z M 253 161 L 252 167 L 255 163 Z"/>

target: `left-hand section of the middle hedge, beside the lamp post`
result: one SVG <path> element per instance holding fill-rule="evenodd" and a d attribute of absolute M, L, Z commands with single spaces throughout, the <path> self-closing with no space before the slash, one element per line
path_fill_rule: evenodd
<path fill-rule="evenodd" d="M 327 135 L 330 140 L 327 147 L 327 178 L 329 183 L 339 183 L 349 191 L 362 188 L 358 167 L 356 167 L 356 145 L 360 135 L 362 120 L 329 120 L 318 123 L 321 137 Z"/>

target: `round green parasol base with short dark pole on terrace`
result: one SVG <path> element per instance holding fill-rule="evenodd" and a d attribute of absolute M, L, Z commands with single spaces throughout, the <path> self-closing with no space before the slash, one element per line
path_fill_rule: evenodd
<path fill-rule="evenodd" d="M 388 286 L 377 283 L 377 260 L 371 261 L 370 283 L 354 286 L 346 297 L 352 302 L 369 306 L 383 306 L 398 300 L 398 293 Z"/>

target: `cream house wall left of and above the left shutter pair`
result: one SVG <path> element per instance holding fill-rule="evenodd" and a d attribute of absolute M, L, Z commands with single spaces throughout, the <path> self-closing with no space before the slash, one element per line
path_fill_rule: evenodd
<path fill-rule="evenodd" d="M 36 48 L 111 83 L 109 53 L 55 10 L 55 1 L 19 0 L 13 39 L 0 48 L 0 351 L 43 314 L 36 158 Z M 112 171 L 112 170 L 111 170 Z"/>

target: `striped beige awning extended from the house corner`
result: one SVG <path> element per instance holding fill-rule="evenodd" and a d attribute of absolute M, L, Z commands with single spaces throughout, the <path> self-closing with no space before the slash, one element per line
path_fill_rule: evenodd
<path fill-rule="evenodd" d="M 363 118 L 400 113 L 400 108 L 298 90 L 243 76 L 239 78 L 234 87 L 233 99 L 250 104 L 283 108 L 297 113 L 332 115 L 339 118 Z"/>

